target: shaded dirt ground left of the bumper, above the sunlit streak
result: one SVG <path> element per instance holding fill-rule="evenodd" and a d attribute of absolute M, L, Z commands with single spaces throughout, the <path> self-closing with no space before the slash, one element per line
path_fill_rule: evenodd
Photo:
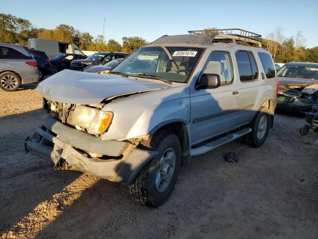
<path fill-rule="evenodd" d="M 39 203 L 50 200 L 80 175 L 79 172 L 54 173 L 49 160 L 25 154 L 24 140 L 40 125 L 43 115 L 39 109 L 0 118 L 0 233 L 16 225 Z M 44 177 L 49 180 L 45 185 Z"/>

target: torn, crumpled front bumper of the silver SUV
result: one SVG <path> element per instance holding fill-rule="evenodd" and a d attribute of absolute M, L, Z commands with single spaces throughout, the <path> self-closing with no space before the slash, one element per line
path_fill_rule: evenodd
<path fill-rule="evenodd" d="M 139 171 L 157 155 L 155 151 L 141 150 L 127 142 L 100 140 L 51 116 L 43 118 L 42 127 L 24 145 L 26 152 L 52 160 L 55 169 L 88 172 L 125 184 L 133 183 Z M 105 157 L 94 158 L 89 153 Z"/>

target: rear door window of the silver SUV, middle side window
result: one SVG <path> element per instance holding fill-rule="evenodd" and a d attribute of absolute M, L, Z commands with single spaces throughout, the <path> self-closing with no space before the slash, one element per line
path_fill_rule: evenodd
<path fill-rule="evenodd" d="M 257 80 L 258 70 L 253 54 L 247 51 L 237 51 L 235 56 L 238 62 L 240 81 Z"/>

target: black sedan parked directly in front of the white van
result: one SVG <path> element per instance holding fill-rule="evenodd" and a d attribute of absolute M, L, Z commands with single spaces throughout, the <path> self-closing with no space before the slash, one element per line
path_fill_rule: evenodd
<path fill-rule="evenodd" d="M 69 69 L 73 60 L 85 59 L 87 56 L 71 53 L 61 53 L 51 58 L 52 73 Z"/>

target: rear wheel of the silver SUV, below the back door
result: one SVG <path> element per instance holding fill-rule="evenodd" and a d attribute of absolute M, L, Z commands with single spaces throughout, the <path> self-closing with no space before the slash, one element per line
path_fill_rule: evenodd
<path fill-rule="evenodd" d="M 246 135 L 247 143 L 254 148 L 262 146 L 267 138 L 269 127 L 269 110 L 266 107 L 262 107 L 250 123 L 252 131 Z"/>

